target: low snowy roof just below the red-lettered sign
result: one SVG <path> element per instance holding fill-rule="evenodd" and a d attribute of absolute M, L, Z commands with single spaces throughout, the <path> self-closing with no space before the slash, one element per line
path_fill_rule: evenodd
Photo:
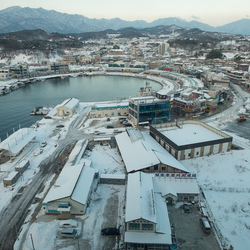
<path fill-rule="evenodd" d="M 152 175 L 152 174 L 151 174 Z M 172 178 L 154 176 L 154 190 L 162 196 L 172 194 L 199 194 L 199 187 L 196 178 Z"/>

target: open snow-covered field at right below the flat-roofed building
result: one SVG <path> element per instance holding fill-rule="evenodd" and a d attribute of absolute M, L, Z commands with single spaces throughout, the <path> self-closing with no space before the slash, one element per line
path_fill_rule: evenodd
<path fill-rule="evenodd" d="M 237 150 L 182 161 L 197 173 L 212 220 L 236 250 L 250 246 L 250 150 Z"/>

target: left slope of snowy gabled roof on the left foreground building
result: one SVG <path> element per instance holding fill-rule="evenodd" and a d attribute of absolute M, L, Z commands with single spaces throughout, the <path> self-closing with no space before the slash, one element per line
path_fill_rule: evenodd
<path fill-rule="evenodd" d="M 65 166 L 59 175 L 56 183 L 51 187 L 43 203 L 70 197 L 80 177 L 83 164 Z"/>

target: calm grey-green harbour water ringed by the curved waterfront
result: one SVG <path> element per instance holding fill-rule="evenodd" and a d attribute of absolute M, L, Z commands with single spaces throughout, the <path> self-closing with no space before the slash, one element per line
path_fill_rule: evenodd
<path fill-rule="evenodd" d="M 148 81 L 148 80 L 147 80 Z M 153 90 L 161 85 L 150 82 Z M 122 76 L 91 76 L 51 79 L 26 85 L 8 95 L 0 96 L 0 138 L 4 140 L 19 126 L 30 127 L 40 116 L 29 113 L 35 106 L 56 106 L 74 97 L 81 102 L 109 101 L 136 96 L 146 80 Z M 19 125 L 20 124 L 20 125 Z"/>

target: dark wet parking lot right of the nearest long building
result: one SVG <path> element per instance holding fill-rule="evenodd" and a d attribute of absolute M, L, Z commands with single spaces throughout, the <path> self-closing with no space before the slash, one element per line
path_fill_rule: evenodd
<path fill-rule="evenodd" d="M 196 206 L 190 213 L 184 213 L 182 207 L 168 206 L 170 223 L 176 233 L 177 244 L 182 250 L 220 250 L 213 231 L 205 234 L 199 219 L 201 215 Z"/>

